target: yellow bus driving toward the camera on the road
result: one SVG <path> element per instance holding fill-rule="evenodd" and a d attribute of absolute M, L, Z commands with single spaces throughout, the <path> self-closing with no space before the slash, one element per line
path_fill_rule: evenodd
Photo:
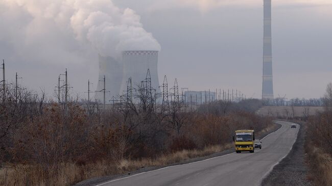
<path fill-rule="evenodd" d="M 235 137 L 233 136 L 233 141 L 235 142 L 235 152 L 254 152 L 255 150 L 255 131 L 254 130 L 236 130 Z"/>

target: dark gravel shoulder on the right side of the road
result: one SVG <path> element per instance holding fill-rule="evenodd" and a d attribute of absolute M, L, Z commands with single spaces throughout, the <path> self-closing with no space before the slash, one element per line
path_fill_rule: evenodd
<path fill-rule="evenodd" d="M 311 185 L 310 181 L 306 179 L 309 168 L 304 162 L 304 137 L 305 129 L 301 125 L 292 150 L 262 181 L 262 186 Z"/>

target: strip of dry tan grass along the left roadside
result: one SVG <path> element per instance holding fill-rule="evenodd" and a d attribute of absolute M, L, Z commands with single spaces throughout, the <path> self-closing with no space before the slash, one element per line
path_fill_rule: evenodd
<path fill-rule="evenodd" d="M 232 144 L 215 145 L 205 147 L 203 150 L 177 151 L 155 159 L 121 160 L 116 164 L 107 161 L 85 166 L 67 163 L 59 165 L 57 174 L 50 172 L 48 175 L 45 175 L 45 171 L 42 171 L 40 167 L 34 165 L 7 165 L 0 169 L 0 185 L 71 185 L 93 177 L 123 174 L 143 167 L 170 165 L 189 158 L 221 152 L 231 147 Z"/>

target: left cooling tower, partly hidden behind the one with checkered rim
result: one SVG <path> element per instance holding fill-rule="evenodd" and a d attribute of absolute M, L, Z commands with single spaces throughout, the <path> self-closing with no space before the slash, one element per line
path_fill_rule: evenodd
<path fill-rule="evenodd" d="M 123 67 L 112 57 L 99 55 L 99 82 L 97 86 L 96 99 L 103 102 L 104 100 L 104 75 L 105 75 L 105 102 L 108 103 L 112 97 L 120 94 L 122 82 Z"/>

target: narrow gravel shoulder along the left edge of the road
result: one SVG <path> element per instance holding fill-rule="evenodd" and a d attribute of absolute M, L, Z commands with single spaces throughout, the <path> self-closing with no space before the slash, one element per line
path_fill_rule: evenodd
<path fill-rule="evenodd" d="M 258 134 L 256 134 L 256 138 L 257 139 L 262 139 L 264 137 L 266 137 L 267 135 L 271 134 L 272 132 L 278 130 L 281 127 L 280 124 L 276 124 L 274 123 L 272 127 L 269 128 L 268 131 L 264 131 L 264 132 L 260 132 Z M 224 150 L 222 152 L 218 152 L 218 153 L 214 153 L 214 154 L 210 154 L 204 157 L 196 157 L 196 158 L 191 158 L 179 163 L 175 163 L 175 164 L 171 164 L 171 165 L 167 165 L 167 166 L 156 166 L 156 167 L 145 167 L 142 169 L 138 169 L 136 171 L 133 172 L 129 172 L 127 174 L 122 174 L 122 175 L 110 175 L 110 176 L 102 176 L 102 177 L 97 177 L 97 178 L 92 178 L 92 179 L 88 179 L 88 180 L 84 180 L 81 181 L 79 183 L 77 183 L 76 185 L 82 185 L 82 186 L 90 186 L 90 185 L 96 185 L 96 184 L 100 184 L 112 179 L 117 179 L 117 178 L 123 178 L 123 177 L 127 177 L 130 175 L 134 175 L 134 174 L 138 174 L 138 173 L 142 173 L 142 172 L 148 172 L 148 171 L 153 171 L 156 169 L 160 169 L 160 168 L 164 168 L 164 167 L 169 167 L 169 166 L 175 166 L 175 165 L 182 165 L 182 164 L 188 164 L 188 163 L 192 163 L 192 162 L 198 162 L 198 161 L 202 161 L 202 160 L 206 160 L 212 157 L 217 157 L 217 156 L 222 156 L 222 155 L 226 155 L 229 153 L 233 153 L 235 152 L 233 148 Z"/>

